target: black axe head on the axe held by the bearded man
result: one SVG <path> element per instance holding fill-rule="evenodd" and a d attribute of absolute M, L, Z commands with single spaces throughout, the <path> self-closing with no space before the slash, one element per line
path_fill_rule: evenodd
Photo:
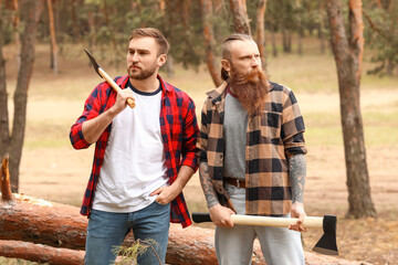
<path fill-rule="evenodd" d="M 325 255 L 338 255 L 336 243 L 337 218 L 335 215 L 325 215 L 323 220 L 324 234 L 316 243 L 313 251 Z"/>

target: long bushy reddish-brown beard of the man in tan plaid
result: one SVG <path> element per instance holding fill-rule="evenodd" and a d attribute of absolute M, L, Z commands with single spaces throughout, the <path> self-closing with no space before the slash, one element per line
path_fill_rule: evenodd
<path fill-rule="evenodd" d="M 249 115 L 260 113 L 270 86 L 263 71 L 255 68 L 247 74 L 240 74 L 232 67 L 228 83 Z"/>

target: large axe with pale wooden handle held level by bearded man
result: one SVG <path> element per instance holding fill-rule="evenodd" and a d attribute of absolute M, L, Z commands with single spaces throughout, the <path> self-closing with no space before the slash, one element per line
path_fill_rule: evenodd
<path fill-rule="evenodd" d="M 244 225 L 261 225 L 261 226 L 275 226 L 287 227 L 290 224 L 297 222 L 297 219 L 290 218 L 265 218 L 253 216 L 243 214 L 232 214 L 232 222 L 234 224 Z M 209 213 L 192 213 L 192 220 L 196 223 L 211 222 Z M 325 255 L 338 255 L 336 244 L 336 223 L 337 218 L 335 215 L 324 215 L 323 218 L 304 218 L 303 226 L 310 229 L 323 227 L 324 234 L 321 240 L 313 247 L 314 252 Z"/>

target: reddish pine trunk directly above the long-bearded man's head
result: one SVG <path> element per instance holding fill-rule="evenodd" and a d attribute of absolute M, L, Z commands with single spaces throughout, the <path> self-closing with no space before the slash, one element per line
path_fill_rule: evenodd
<path fill-rule="evenodd" d="M 245 0 L 230 0 L 230 8 L 235 32 L 251 35 Z"/>

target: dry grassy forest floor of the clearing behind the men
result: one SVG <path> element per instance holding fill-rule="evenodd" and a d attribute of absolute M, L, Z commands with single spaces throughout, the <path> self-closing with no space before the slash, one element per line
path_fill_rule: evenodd
<path fill-rule="evenodd" d="M 6 54 L 9 56 L 7 77 L 12 117 L 17 66 L 13 51 L 10 49 Z M 86 96 L 101 80 L 83 53 L 61 57 L 59 75 L 49 70 L 48 54 L 46 46 L 36 47 L 20 167 L 20 192 L 80 205 L 94 147 L 73 150 L 69 144 L 69 130 L 82 113 Z M 101 64 L 111 76 L 125 73 L 124 66 L 116 70 Z M 333 56 L 281 55 L 270 59 L 268 65 L 273 81 L 283 82 L 295 91 L 306 120 L 308 153 L 304 200 L 307 215 L 337 215 L 341 258 L 379 265 L 398 264 L 398 80 L 363 77 L 360 100 L 371 199 L 377 218 L 352 220 L 345 218 L 348 193 Z M 198 114 L 205 92 L 213 87 L 205 67 L 192 71 L 176 66 L 175 77 L 165 78 L 193 98 Z M 197 174 L 187 184 L 185 194 L 191 212 L 206 211 Z M 211 224 L 205 226 L 213 227 Z M 303 233 L 305 251 L 311 251 L 321 235 L 322 230 L 316 229 Z M 13 264 L 1 258 L 0 263 Z"/>

